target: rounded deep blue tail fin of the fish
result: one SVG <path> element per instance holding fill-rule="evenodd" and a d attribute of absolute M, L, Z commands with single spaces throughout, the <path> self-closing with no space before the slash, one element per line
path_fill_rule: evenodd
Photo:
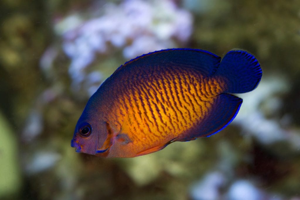
<path fill-rule="evenodd" d="M 262 77 L 262 69 L 253 55 L 232 49 L 224 56 L 215 74 L 228 79 L 225 93 L 244 93 L 256 88 Z"/>

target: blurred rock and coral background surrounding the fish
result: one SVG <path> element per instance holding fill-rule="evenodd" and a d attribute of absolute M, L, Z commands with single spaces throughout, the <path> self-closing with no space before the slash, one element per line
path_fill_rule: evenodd
<path fill-rule="evenodd" d="M 76 122 L 138 55 L 247 49 L 263 77 L 220 133 L 130 159 L 78 154 Z M 300 1 L 0 1 L 0 199 L 300 199 Z"/>

